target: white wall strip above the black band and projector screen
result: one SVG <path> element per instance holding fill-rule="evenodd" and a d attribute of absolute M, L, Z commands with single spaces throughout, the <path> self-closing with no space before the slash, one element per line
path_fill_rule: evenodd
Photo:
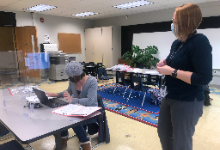
<path fill-rule="evenodd" d="M 201 8 L 203 17 L 219 16 L 220 1 L 198 4 Z M 175 8 L 139 13 L 135 15 L 112 17 L 106 19 L 95 20 L 94 26 L 128 26 L 136 24 L 145 24 L 153 22 L 171 21 Z"/>

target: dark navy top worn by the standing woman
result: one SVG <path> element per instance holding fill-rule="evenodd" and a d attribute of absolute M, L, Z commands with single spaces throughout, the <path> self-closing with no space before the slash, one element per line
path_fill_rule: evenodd
<path fill-rule="evenodd" d="M 212 80 L 212 47 L 207 37 L 196 34 L 186 41 L 183 47 L 170 58 L 171 53 L 178 50 L 182 42 L 175 40 L 170 54 L 166 58 L 167 65 L 174 69 L 193 72 L 191 84 L 180 79 L 166 76 L 166 98 L 181 101 L 204 100 L 203 85 Z"/>

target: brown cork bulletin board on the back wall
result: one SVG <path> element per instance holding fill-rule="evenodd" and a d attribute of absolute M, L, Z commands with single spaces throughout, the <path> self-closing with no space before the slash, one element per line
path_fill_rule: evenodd
<path fill-rule="evenodd" d="M 64 53 L 82 53 L 81 35 L 58 33 L 59 50 Z"/>

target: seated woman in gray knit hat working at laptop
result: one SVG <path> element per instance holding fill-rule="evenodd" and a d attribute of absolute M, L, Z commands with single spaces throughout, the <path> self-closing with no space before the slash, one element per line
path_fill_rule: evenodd
<path fill-rule="evenodd" d="M 98 106 L 97 101 L 97 87 L 96 78 L 87 76 L 83 72 L 83 67 L 79 62 L 72 61 L 66 65 L 66 74 L 69 76 L 69 87 L 66 91 L 61 93 L 46 93 L 51 97 L 64 97 L 72 104 L 80 104 L 84 106 Z M 72 98 L 71 95 L 74 95 Z M 87 124 L 95 123 L 97 120 L 92 120 Z M 83 150 L 91 150 L 91 142 L 87 137 L 86 130 L 83 125 L 72 128 L 76 133 Z M 68 131 L 61 132 L 62 149 L 65 150 L 68 141 Z"/>

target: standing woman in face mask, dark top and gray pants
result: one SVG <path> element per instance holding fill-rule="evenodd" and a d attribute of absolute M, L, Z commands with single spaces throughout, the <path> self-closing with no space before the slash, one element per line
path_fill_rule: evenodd
<path fill-rule="evenodd" d="M 212 47 L 196 31 L 201 21 L 198 5 L 177 7 L 171 24 L 177 40 L 168 57 L 157 64 L 158 72 L 166 75 L 167 86 L 158 120 L 163 150 L 192 150 L 195 126 L 203 114 L 203 85 L 212 80 Z"/>

